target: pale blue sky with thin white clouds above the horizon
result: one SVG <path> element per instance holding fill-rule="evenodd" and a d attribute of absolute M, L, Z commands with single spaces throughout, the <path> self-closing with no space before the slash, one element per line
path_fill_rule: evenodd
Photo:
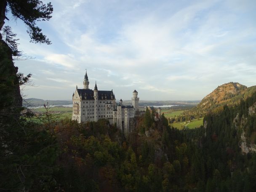
<path fill-rule="evenodd" d="M 48 0 L 43 1 L 47 3 Z M 32 73 L 25 98 L 70 100 L 83 88 L 112 90 L 117 100 L 200 100 L 228 82 L 256 85 L 255 0 L 52 0 L 37 22 L 51 45 L 29 43 L 27 27 L 5 25 Z"/>

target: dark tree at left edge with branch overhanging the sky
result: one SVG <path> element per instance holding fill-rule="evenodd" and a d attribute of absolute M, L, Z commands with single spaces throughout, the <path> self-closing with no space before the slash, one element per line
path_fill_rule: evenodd
<path fill-rule="evenodd" d="M 5 19 L 9 20 L 6 15 L 11 13 L 14 19 L 21 19 L 27 25 L 31 42 L 51 44 L 36 24 L 37 21 L 49 20 L 52 12 L 51 3 L 44 4 L 40 0 L 0 0 L 0 31 L 3 33 L 1 29 L 5 24 Z M 12 56 L 19 52 L 17 52 L 15 40 L 12 41 L 15 35 L 11 35 L 8 28 L 5 29 L 7 29 L 4 30 L 5 41 L 2 38 L 3 34 L 0 33 L 0 115 L 9 114 L 10 117 L 12 114 L 17 119 L 22 106 L 22 98 L 19 77 L 16 75 L 18 67 L 14 66 Z"/>

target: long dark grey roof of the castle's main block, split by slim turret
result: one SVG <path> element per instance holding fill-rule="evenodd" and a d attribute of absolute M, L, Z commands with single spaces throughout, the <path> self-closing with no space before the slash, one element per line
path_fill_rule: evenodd
<path fill-rule="evenodd" d="M 77 92 L 82 99 L 85 99 L 86 97 L 87 100 L 94 100 L 94 92 L 91 89 L 77 89 Z M 98 100 L 111 99 L 111 95 L 113 96 L 113 99 L 115 99 L 113 91 L 98 91 Z"/>

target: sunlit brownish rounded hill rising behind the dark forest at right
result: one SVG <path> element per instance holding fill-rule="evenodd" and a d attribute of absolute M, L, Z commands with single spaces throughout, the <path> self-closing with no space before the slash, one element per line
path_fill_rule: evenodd
<path fill-rule="evenodd" d="M 224 105 L 236 105 L 256 92 L 256 86 L 246 87 L 240 83 L 225 83 L 205 96 L 197 107 L 188 111 L 189 114 L 204 116 L 207 112 Z"/>

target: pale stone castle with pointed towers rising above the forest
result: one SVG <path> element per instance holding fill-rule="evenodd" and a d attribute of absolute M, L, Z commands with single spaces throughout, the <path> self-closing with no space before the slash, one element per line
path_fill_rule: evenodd
<path fill-rule="evenodd" d="M 130 119 L 139 114 L 138 92 L 133 91 L 132 106 L 123 105 L 122 99 L 116 104 L 115 94 L 111 91 L 99 91 L 95 82 L 94 90 L 89 89 L 87 71 L 83 81 L 83 89 L 76 87 L 73 93 L 72 120 L 78 123 L 108 119 L 109 123 L 116 124 L 124 133 L 129 131 Z"/>

